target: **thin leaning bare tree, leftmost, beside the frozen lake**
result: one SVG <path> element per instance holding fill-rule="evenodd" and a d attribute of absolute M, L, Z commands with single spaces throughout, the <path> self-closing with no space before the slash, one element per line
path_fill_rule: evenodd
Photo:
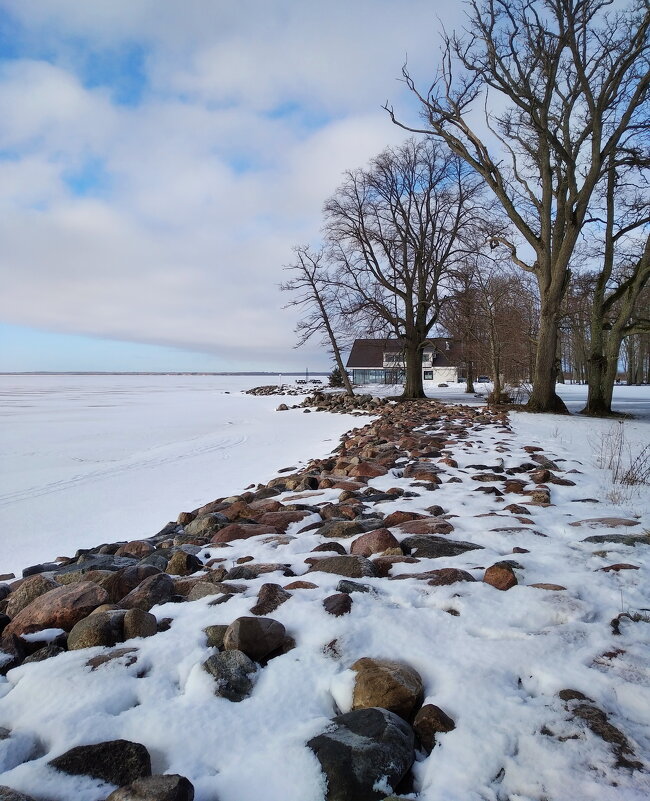
<path fill-rule="evenodd" d="M 337 316 L 336 298 L 327 274 L 324 252 L 322 249 L 314 251 L 309 247 L 296 247 L 294 253 L 294 262 L 285 267 L 286 270 L 293 273 L 293 277 L 280 284 L 280 289 L 283 292 L 296 293 L 296 296 L 287 303 L 287 307 L 300 306 L 307 312 L 296 326 L 298 334 L 296 347 L 301 347 L 314 334 L 319 334 L 321 339 L 329 343 L 331 347 L 346 393 L 353 396 L 354 390 L 343 365 L 341 350 L 334 331 L 334 320 Z"/>

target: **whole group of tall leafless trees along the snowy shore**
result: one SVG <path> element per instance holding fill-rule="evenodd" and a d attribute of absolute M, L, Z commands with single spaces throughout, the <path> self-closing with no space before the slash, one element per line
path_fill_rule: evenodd
<path fill-rule="evenodd" d="M 506 363 L 529 366 L 534 411 L 565 411 L 562 344 L 583 365 L 585 413 L 611 412 L 622 352 L 643 372 L 650 0 L 611 5 L 470 0 L 429 87 L 403 70 L 421 121 L 386 106 L 423 138 L 348 172 L 326 202 L 319 330 L 403 337 L 407 397 L 423 394 L 440 323 L 467 365 L 487 359 L 497 398 Z"/>

